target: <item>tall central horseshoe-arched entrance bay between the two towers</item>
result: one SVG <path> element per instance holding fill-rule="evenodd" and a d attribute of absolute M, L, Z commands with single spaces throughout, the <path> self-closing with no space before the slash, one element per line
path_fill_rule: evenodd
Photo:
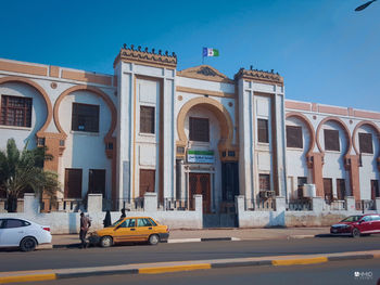
<path fill-rule="evenodd" d="M 177 198 L 188 197 L 192 206 L 193 195 L 201 194 L 203 226 L 235 226 L 239 172 L 229 112 L 213 99 L 190 100 L 178 114 L 177 131 L 177 147 L 183 147 L 182 159 L 177 159 L 177 178 L 183 178 Z"/>

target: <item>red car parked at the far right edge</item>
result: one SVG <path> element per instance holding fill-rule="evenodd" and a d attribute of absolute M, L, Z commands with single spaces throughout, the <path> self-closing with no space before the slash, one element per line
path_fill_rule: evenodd
<path fill-rule="evenodd" d="M 351 235 L 353 237 L 380 233 L 380 215 L 367 213 L 350 216 L 339 223 L 331 225 L 330 233 Z"/>

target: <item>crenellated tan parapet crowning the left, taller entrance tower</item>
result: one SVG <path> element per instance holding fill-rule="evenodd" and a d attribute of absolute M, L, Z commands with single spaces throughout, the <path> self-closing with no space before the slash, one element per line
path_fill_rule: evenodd
<path fill-rule="evenodd" d="M 167 51 L 163 53 L 162 50 L 159 50 L 156 53 L 155 50 L 152 49 L 151 52 L 149 52 L 148 48 L 141 50 L 141 47 L 139 46 L 137 49 L 135 49 L 134 44 L 130 44 L 130 48 L 127 48 L 127 44 L 125 43 L 114 61 L 114 66 L 118 63 L 118 61 L 160 65 L 172 68 L 177 66 L 177 55 L 174 52 L 172 55 L 169 55 Z"/>

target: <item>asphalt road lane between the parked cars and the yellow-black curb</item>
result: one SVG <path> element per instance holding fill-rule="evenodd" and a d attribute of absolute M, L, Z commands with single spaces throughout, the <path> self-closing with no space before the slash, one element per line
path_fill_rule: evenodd
<path fill-rule="evenodd" d="M 206 260 L 282 255 L 311 255 L 380 249 L 380 236 L 315 237 L 281 241 L 202 242 L 132 245 L 112 248 L 0 251 L 4 271 L 101 267 L 115 264 Z"/>

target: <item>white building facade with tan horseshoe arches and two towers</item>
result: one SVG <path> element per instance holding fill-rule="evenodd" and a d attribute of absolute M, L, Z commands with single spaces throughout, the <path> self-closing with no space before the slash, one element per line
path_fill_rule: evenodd
<path fill-rule="evenodd" d="M 174 53 L 132 46 L 114 75 L 0 60 L 0 147 L 46 145 L 60 198 L 101 193 L 112 209 L 147 193 L 185 209 L 201 194 L 204 213 L 238 195 L 246 208 L 380 197 L 380 113 L 286 100 L 273 72 L 176 68 Z"/>

